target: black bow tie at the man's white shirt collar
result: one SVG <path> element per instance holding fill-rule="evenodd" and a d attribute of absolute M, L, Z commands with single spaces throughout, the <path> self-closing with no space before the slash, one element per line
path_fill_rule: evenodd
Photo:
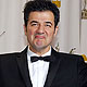
<path fill-rule="evenodd" d="M 30 57 L 30 61 L 32 62 L 36 62 L 38 60 L 44 60 L 47 62 L 51 62 L 52 61 L 52 57 L 51 55 L 47 55 L 47 57 Z"/>

